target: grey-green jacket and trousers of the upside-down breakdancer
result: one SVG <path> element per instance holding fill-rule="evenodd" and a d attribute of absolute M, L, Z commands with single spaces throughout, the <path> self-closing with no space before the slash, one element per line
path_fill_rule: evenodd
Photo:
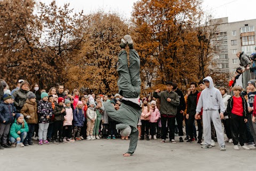
<path fill-rule="evenodd" d="M 130 67 L 128 67 L 127 53 L 121 51 L 118 55 L 118 89 L 119 94 L 126 98 L 137 98 L 140 95 L 140 57 L 135 50 L 129 52 Z M 126 153 L 133 154 L 137 148 L 139 131 L 137 125 L 141 115 L 141 110 L 130 105 L 121 104 L 119 110 L 115 110 L 110 102 L 104 104 L 108 116 L 121 124 L 116 125 L 116 129 L 124 129 L 131 126 L 130 145 Z"/>

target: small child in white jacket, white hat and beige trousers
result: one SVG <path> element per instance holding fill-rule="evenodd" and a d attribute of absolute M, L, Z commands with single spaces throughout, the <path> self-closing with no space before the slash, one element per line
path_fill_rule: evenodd
<path fill-rule="evenodd" d="M 95 119 L 97 119 L 97 113 L 94 110 L 94 107 L 96 104 L 93 100 L 89 103 L 89 108 L 86 111 L 86 118 L 87 118 L 87 129 L 86 129 L 86 135 L 87 140 L 95 140 L 93 137 L 93 128 L 95 124 Z"/>

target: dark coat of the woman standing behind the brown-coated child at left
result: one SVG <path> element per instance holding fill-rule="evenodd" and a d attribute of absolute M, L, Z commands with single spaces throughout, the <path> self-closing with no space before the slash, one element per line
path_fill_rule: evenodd
<path fill-rule="evenodd" d="M 26 91 L 23 89 L 18 89 L 13 93 L 14 96 L 14 105 L 16 107 L 17 112 L 20 112 L 23 105 L 26 103 L 26 100 L 28 99 L 29 94 L 33 92 Z"/>

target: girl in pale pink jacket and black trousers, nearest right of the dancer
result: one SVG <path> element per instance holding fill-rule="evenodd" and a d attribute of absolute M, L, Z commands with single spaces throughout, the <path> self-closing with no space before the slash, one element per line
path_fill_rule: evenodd
<path fill-rule="evenodd" d="M 150 105 L 148 103 L 148 100 L 146 97 L 142 99 L 142 113 L 140 116 L 141 119 L 141 139 L 144 140 L 145 135 L 145 127 L 146 127 L 146 135 L 147 140 L 149 140 L 149 119 L 150 119 L 151 111 L 150 111 Z"/>

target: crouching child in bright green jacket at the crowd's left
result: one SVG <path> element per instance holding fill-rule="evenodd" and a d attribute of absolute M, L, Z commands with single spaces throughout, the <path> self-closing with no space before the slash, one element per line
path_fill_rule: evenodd
<path fill-rule="evenodd" d="M 20 146 L 23 147 L 23 141 L 26 139 L 28 133 L 28 124 L 21 113 L 16 114 L 16 119 L 10 129 L 10 142 L 14 147 L 16 142 L 20 142 Z"/>

